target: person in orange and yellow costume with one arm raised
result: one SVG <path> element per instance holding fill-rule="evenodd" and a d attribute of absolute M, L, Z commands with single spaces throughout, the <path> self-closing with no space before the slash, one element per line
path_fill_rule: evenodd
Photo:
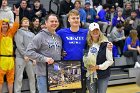
<path fill-rule="evenodd" d="M 0 93 L 2 93 L 2 85 L 4 75 L 8 82 L 9 93 L 13 92 L 14 82 L 14 56 L 13 56 L 13 37 L 19 28 L 19 9 L 14 9 L 16 19 L 12 27 L 9 25 L 8 19 L 0 20 Z"/>

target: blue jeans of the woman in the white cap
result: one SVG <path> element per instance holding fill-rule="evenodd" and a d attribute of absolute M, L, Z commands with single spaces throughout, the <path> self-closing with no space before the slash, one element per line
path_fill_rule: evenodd
<path fill-rule="evenodd" d="M 102 79 L 94 79 L 94 83 L 90 83 L 90 79 L 87 79 L 87 88 L 89 93 L 106 93 L 109 77 Z"/>

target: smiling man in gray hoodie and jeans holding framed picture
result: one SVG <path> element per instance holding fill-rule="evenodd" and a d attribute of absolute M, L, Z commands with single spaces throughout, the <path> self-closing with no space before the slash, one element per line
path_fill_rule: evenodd
<path fill-rule="evenodd" d="M 61 60 L 62 41 L 55 33 L 59 26 L 58 18 L 50 14 L 45 20 L 47 29 L 40 31 L 29 43 L 26 56 L 36 60 L 37 86 L 39 93 L 47 92 L 46 63 L 52 64 L 54 60 Z"/>

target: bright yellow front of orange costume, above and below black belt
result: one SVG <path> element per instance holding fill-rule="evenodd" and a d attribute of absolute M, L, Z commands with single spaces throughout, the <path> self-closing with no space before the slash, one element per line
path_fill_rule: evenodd
<path fill-rule="evenodd" d="M 13 40 L 12 37 L 2 37 L 0 41 L 1 55 L 13 55 Z M 13 57 L 0 57 L 0 69 L 11 70 L 14 68 Z"/>

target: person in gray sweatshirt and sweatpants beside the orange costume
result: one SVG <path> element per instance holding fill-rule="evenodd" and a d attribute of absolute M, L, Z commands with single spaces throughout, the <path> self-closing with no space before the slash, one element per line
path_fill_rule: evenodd
<path fill-rule="evenodd" d="M 21 93 L 24 69 L 29 78 L 30 93 L 36 93 L 35 74 L 32 61 L 25 56 L 27 45 L 34 38 L 35 34 L 29 30 L 29 19 L 23 17 L 21 20 L 21 28 L 15 34 L 16 58 L 15 58 L 15 82 L 14 93 Z"/>

